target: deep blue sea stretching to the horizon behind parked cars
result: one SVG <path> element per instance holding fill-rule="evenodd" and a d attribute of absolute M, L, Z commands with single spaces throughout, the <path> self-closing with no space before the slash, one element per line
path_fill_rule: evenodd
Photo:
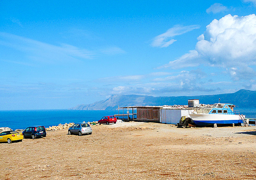
<path fill-rule="evenodd" d="M 98 121 L 103 116 L 118 114 L 118 110 L 15 110 L 0 111 L 0 127 L 15 129 L 26 129 L 28 126 L 42 125 L 49 127 L 53 125 L 78 122 Z M 256 118 L 254 109 L 240 114 L 249 118 Z"/>

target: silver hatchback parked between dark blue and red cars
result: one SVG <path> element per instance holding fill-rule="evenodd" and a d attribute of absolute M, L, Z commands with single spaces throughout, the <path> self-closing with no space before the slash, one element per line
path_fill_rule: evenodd
<path fill-rule="evenodd" d="M 92 134 L 93 129 L 88 123 L 76 123 L 68 128 L 68 134 L 78 134 L 82 136 L 83 134 Z"/>

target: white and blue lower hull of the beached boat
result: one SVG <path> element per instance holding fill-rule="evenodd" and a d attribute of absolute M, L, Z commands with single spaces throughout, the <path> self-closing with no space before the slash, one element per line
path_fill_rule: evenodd
<path fill-rule="evenodd" d="M 198 126 L 242 123 L 242 119 L 239 119 L 239 115 L 233 114 L 189 114 L 189 116 Z"/>

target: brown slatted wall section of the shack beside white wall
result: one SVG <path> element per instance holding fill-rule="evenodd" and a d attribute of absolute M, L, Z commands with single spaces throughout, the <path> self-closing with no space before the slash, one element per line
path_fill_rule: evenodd
<path fill-rule="evenodd" d="M 160 122 L 160 108 L 137 108 L 137 121 Z"/>

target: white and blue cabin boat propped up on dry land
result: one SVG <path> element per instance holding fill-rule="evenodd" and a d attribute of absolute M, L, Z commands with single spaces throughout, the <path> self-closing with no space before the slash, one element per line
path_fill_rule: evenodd
<path fill-rule="evenodd" d="M 239 114 L 233 111 L 233 104 L 216 103 L 212 108 L 200 108 L 197 112 L 189 114 L 192 121 L 199 126 L 209 124 L 238 124 L 242 123 Z"/>

